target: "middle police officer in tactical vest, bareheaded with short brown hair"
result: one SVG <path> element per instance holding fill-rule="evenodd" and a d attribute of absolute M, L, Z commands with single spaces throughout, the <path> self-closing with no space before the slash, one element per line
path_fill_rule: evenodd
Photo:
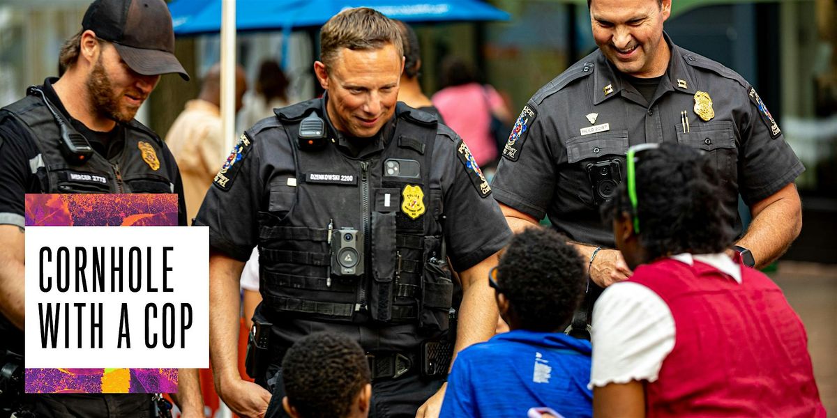
<path fill-rule="evenodd" d="M 460 137 L 397 103 L 402 51 L 377 11 L 331 18 L 314 65 L 326 94 L 246 130 L 198 212 L 215 384 L 240 415 L 280 412 L 285 351 L 328 330 L 366 351 L 371 416 L 436 416 L 452 354 L 494 332 L 486 278 L 511 232 Z M 256 245 L 248 369 L 261 386 L 236 368 L 239 275 Z"/>

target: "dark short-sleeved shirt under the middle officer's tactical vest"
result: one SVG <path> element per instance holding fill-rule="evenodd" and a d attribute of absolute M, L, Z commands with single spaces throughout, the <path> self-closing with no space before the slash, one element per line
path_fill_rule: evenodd
<path fill-rule="evenodd" d="M 321 109 L 321 115 L 325 114 L 324 103 Z M 408 122 L 397 120 L 397 123 Z M 253 132 L 256 134 L 251 135 Z M 238 166 L 234 167 L 234 176 L 226 183 L 226 189 L 213 182 L 196 218 L 196 225 L 208 225 L 209 245 L 213 250 L 242 262 L 249 259 L 250 252 L 258 242 L 258 212 L 267 211 L 270 200 L 276 198 L 270 192 L 270 179 L 297 176 L 291 148 L 293 145 L 275 117 L 260 121 L 245 135 L 248 135 L 249 150 L 240 161 L 234 163 Z M 377 159 L 380 150 L 390 140 L 372 140 L 366 148 L 360 150 L 359 155 L 362 155 L 363 161 Z M 433 165 L 430 168 L 431 178 L 427 183 L 429 188 L 440 188 L 443 192 L 442 204 L 446 217 L 444 237 L 448 256 L 457 271 L 480 263 L 499 251 L 511 237 L 511 231 L 496 201 L 490 195 L 480 194 L 471 178 L 476 176 L 475 171 L 460 161 L 457 155 L 457 145 L 460 142 L 460 137 L 452 130 L 438 125 Z M 338 149 L 344 150 L 342 147 Z M 351 155 L 347 155 L 347 158 L 355 159 Z M 293 192 L 292 187 L 287 189 Z M 414 324 L 374 327 L 294 319 L 283 320 L 280 330 L 275 331 L 280 337 L 277 342 L 286 346 L 301 336 L 326 329 L 354 336 L 367 350 L 409 350 L 414 349 L 420 340 Z"/>

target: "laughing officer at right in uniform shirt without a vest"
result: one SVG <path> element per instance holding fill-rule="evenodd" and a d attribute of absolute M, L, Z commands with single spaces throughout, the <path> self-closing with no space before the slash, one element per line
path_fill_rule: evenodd
<path fill-rule="evenodd" d="M 675 45 L 663 31 L 671 0 L 588 7 L 598 50 L 531 97 L 503 150 L 492 188 L 511 229 L 546 215 L 577 242 L 593 283 L 624 280 L 631 271 L 599 206 L 624 181 L 629 145 L 678 142 L 705 151 L 724 179 L 727 222 L 739 234 L 728 253 L 757 268 L 772 263 L 802 227 L 793 180 L 804 167 L 756 90 Z M 738 193 L 753 217 L 743 234 Z M 577 315 L 573 329 L 586 319 Z"/>

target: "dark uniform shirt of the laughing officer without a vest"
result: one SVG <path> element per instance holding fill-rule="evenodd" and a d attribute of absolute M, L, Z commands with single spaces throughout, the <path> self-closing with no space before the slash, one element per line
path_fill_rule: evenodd
<path fill-rule="evenodd" d="M 680 142 L 709 152 L 738 232 L 738 192 L 752 206 L 804 171 L 745 79 L 664 37 L 671 58 L 650 102 L 599 50 L 532 96 L 491 184 L 496 200 L 536 219 L 548 215 L 575 241 L 613 247 L 598 207 L 624 181 L 629 145 Z M 714 111 L 709 120 L 696 111 L 697 102 L 708 109 L 706 97 Z"/>

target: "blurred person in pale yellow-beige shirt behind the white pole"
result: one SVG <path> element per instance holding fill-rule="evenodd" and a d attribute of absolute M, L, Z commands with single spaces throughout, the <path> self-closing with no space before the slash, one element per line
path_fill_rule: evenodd
<path fill-rule="evenodd" d="M 244 69 L 235 69 L 235 111 L 241 110 L 247 90 Z M 186 212 L 191 224 L 203 196 L 223 163 L 221 130 L 221 65 L 214 64 L 203 77 L 198 99 L 189 100 L 166 135 L 183 177 Z"/>

